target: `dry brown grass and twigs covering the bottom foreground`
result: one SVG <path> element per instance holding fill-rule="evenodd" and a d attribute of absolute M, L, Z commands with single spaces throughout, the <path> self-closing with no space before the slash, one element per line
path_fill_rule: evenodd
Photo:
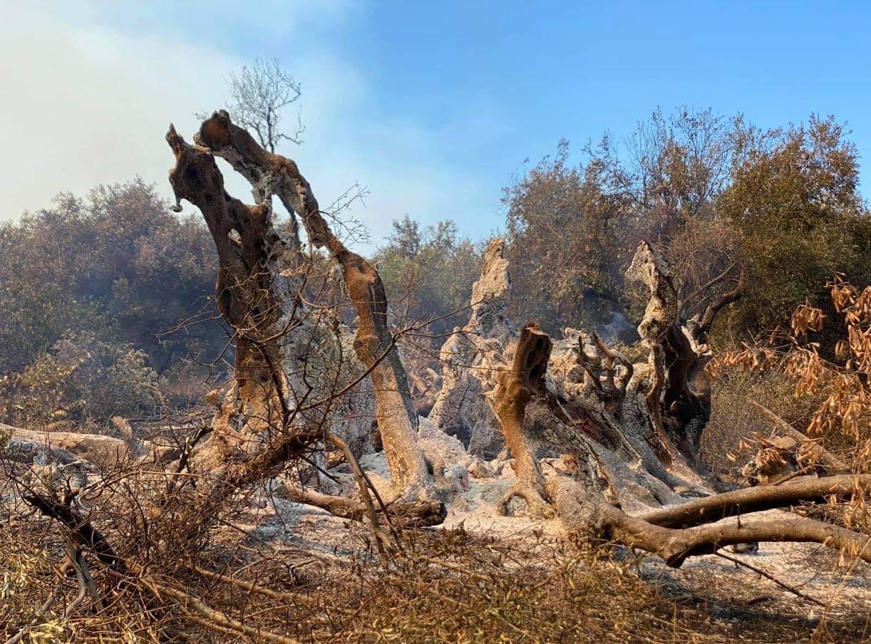
<path fill-rule="evenodd" d="M 51 594 L 63 537 L 44 521 L 6 525 L 0 539 L 9 544 L 0 553 L 8 595 L 0 632 L 10 637 Z M 805 620 L 801 607 L 771 614 L 740 597 L 700 596 L 667 578 L 642 579 L 633 558 L 604 558 L 601 550 L 565 540 L 419 532 L 406 534 L 401 551 L 379 558 L 362 527 L 348 531 L 351 554 L 340 557 L 252 539 L 224 532 L 199 560 L 154 574 L 239 621 L 300 641 L 725 644 L 861 641 L 869 634 L 861 614 L 820 624 Z M 92 572 L 105 584 L 105 571 Z M 272 593 L 253 592 L 244 582 Z M 64 582 L 55 607 L 24 642 L 260 641 L 202 627 L 145 583 L 122 584 L 99 614 L 85 602 L 64 619 L 76 591 L 75 580 Z"/>

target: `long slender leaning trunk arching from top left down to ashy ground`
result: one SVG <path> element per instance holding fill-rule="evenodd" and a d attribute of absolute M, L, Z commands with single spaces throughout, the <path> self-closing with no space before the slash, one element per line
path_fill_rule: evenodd
<path fill-rule="evenodd" d="M 428 497 L 431 484 L 417 446 L 417 414 L 388 327 L 387 296 L 375 267 L 348 250 L 334 235 L 294 161 L 264 150 L 247 131 L 232 123 L 226 111 L 208 118 L 195 140 L 225 158 L 248 179 L 255 192 L 280 198 L 288 211 L 300 216 L 308 240 L 317 248 L 326 248 L 341 265 L 358 316 L 354 350 L 363 365 L 371 369 L 381 442 L 397 492 L 405 499 Z"/>

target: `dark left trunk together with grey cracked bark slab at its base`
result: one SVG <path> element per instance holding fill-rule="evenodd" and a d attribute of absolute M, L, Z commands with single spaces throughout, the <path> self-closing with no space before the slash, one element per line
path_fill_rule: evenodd
<path fill-rule="evenodd" d="M 269 198 L 249 206 L 230 197 L 210 151 L 186 144 L 173 129 L 167 141 L 176 156 L 176 198 L 198 206 L 212 234 L 217 308 L 236 341 L 234 386 L 226 396 L 209 396 L 218 407 L 210 444 L 218 453 L 199 450 L 198 459 L 250 457 L 290 426 L 359 444 L 370 432 L 372 396 L 365 387 L 333 395 L 360 366 L 343 356 L 324 307 L 313 310 L 301 297 L 313 266 L 275 230 Z"/>

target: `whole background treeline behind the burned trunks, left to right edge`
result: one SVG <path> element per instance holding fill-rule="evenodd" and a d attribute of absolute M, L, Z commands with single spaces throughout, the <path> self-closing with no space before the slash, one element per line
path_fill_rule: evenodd
<path fill-rule="evenodd" d="M 561 141 L 503 191 L 517 322 L 631 341 L 645 299 L 624 273 L 643 238 L 688 300 L 744 272 L 745 297 L 715 328 L 724 345 L 784 324 L 795 302 L 824 305 L 834 272 L 860 286 L 871 278 L 858 154 L 834 118 L 760 131 L 712 111 L 656 111 L 625 141 L 584 146 L 579 164 L 569 153 Z M 468 317 L 486 240 L 463 237 L 462 225 L 406 217 L 375 252 L 394 315 L 437 318 L 432 345 Z M 114 369 L 123 380 L 126 356 L 153 380 L 185 359 L 217 359 L 228 335 L 213 311 L 216 266 L 199 218 L 172 214 L 139 179 L 60 195 L 0 226 L 0 376 L 45 382 L 37 373 L 66 360 L 90 365 L 89 379 Z"/>

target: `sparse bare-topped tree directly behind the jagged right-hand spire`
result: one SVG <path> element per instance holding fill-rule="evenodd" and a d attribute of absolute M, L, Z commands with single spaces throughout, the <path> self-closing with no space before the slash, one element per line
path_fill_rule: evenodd
<path fill-rule="evenodd" d="M 586 151 L 601 164 L 605 190 L 628 205 L 621 231 L 630 247 L 647 239 L 667 260 L 685 317 L 704 309 L 739 280 L 733 232 L 719 216 L 716 198 L 730 182 L 741 117 L 711 109 L 662 110 L 639 122 L 622 145 L 605 136 Z M 632 317 L 645 302 L 625 285 Z"/>

